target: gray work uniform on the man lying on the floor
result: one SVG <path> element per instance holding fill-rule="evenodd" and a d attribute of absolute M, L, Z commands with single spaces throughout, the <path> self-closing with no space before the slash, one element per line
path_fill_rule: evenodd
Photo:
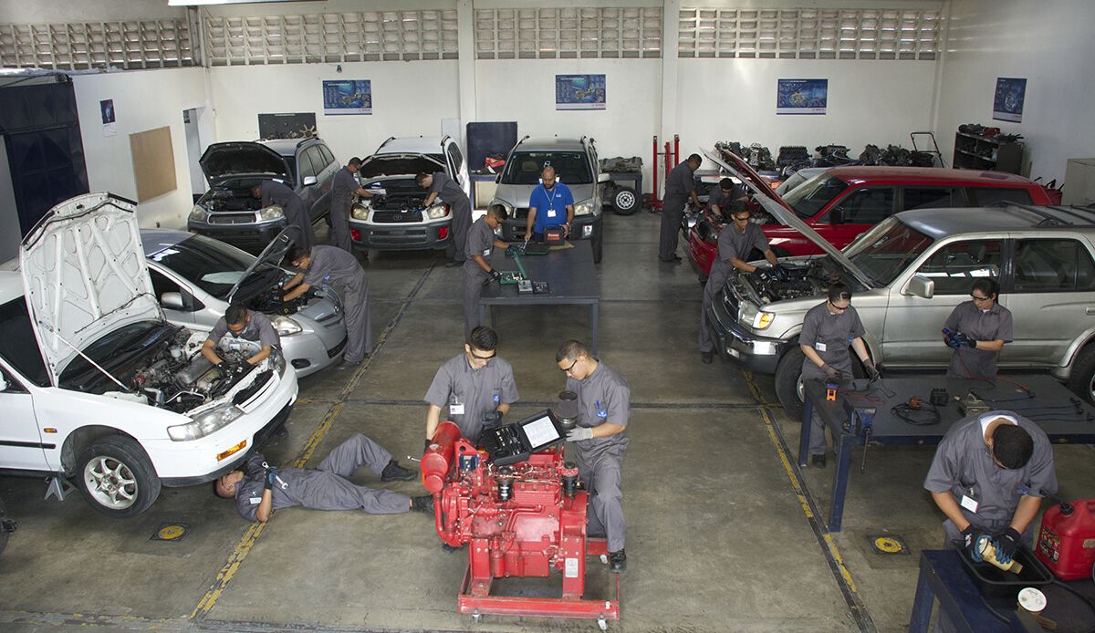
<path fill-rule="evenodd" d="M 243 481 L 235 488 L 235 508 L 240 516 L 253 521 L 263 498 L 266 458 L 255 453 L 247 458 Z M 270 509 L 303 506 L 314 510 L 365 510 L 370 515 L 397 515 L 411 509 L 411 497 L 385 490 L 373 490 L 350 483 L 349 476 L 366 467 L 380 474 L 392 453 L 361 434 L 354 434 L 331 451 L 320 467 L 281 468 L 280 481 L 270 488 Z"/>

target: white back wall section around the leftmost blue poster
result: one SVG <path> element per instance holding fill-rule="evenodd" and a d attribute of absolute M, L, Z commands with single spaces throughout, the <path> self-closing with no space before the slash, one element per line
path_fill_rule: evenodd
<path fill-rule="evenodd" d="M 335 158 L 368 156 L 390 136 L 440 136 L 459 116 L 457 61 L 359 61 L 209 69 L 217 140 L 258 138 L 260 113 L 314 112 Z M 323 114 L 323 80 L 372 81 L 371 115 Z M 180 120 L 182 120 L 180 118 Z"/>

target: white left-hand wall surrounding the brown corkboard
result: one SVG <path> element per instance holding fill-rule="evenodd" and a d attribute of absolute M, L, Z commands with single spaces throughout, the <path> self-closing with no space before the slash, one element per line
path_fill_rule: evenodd
<path fill-rule="evenodd" d="M 80 136 L 88 164 L 88 185 L 137 199 L 129 135 L 170 126 L 177 188 L 137 206 L 142 227 L 185 228 L 193 208 L 183 111 L 205 105 L 201 68 L 135 70 L 77 74 L 72 78 Z M 117 135 L 104 136 L 99 102 L 114 100 Z"/>

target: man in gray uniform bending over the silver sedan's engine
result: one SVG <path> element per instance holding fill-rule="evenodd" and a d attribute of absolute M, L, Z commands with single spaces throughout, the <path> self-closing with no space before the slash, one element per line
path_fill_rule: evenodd
<path fill-rule="evenodd" d="M 300 272 L 283 286 L 283 290 L 288 290 L 283 300 L 292 301 L 316 284 L 336 288 L 346 315 L 346 348 L 338 369 L 360 365 L 372 353 L 372 319 L 369 281 L 357 257 L 337 246 L 318 245 L 290 249 L 287 258 Z"/>

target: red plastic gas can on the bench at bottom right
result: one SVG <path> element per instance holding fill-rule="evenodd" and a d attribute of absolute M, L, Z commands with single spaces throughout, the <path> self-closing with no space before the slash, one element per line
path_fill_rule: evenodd
<path fill-rule="evenodd" d="M 1090 578 L 1095 564 L 1095 499 L 1076 499 L 1047 509 L 1035 550 L 1058 578 Z"/>

